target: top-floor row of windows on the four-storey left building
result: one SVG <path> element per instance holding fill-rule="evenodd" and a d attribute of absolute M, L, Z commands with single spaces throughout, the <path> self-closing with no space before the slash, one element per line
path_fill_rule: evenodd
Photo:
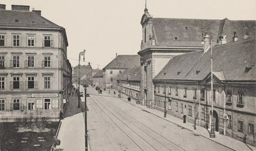
<path fill-rule="evenodd" d="M 0 35 L 0 46 L 5 46 L 6 35 Z M 43 47 L 54 47 L 52 36 L 44 36 Z M 20 46 L 20 34 L 12 35 L 12 46 Z M 27 35 L 27 46 L 35 46 L 35 35 Z"/>

